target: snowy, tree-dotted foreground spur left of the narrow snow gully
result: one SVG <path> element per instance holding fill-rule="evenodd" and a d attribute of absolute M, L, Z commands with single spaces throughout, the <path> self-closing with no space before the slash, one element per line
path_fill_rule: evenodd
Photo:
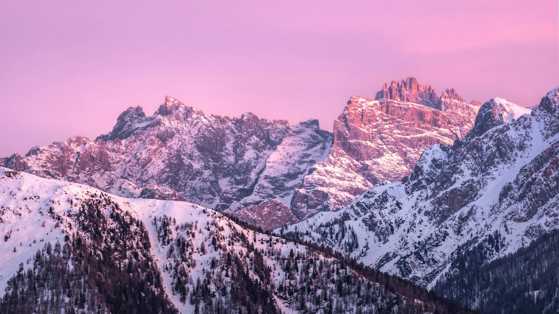
<path fill-rule="evenodd" d="M 0 168 L 2 313 L 176 313 L 122 198 Z M 133 305 L 133 306 L 132 306 Z"/>

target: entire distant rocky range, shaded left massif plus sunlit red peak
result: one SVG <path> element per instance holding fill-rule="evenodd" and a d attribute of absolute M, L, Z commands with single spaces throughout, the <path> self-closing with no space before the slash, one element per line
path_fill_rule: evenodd
<path fill-rule="evenodd" d="M 392 85 L 377 101 L 352 97 L 334 122 L 335 136 L 317 120 L 206 117 L 166 97 L 151 116 L 130 107 L 96 140 L 75 136 L 0 165 L 119 196 L 186 200 L 229 213 L 270 208 L 278 199 L 302 220 L 401 179 L 425 148 L 451 144 L 473 126 L 476 104 L 453 89 L 437 97 L 414 78 Z M 264 228 L 294 222 L 286 212 L 265 212 L 273 216 L 247 210 L 242 216 Z"/>

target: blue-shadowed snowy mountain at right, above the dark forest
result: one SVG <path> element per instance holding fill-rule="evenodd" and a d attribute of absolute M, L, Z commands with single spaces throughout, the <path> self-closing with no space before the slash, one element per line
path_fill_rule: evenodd
<path fill-rule="evenodd" d="M 501 98 L 452 146 L 433 145 L 401 182 L 286 229 L 429 286 L 477 244 L 490 260 L 559 226 L 559 88 L 530 113 Z M 495 244 L 495 233 L 502 235 Z"/>

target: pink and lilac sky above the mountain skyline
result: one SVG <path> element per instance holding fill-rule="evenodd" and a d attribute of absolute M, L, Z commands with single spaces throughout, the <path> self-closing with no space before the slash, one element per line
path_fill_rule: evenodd
<path fill-rule="evenodd" d="M 522 106 L 559 85 L 557 0 L 77 2 L 0 3 L 0 157 L 94 139 L 167 94 L 331 131 L 394 79 Z"/>

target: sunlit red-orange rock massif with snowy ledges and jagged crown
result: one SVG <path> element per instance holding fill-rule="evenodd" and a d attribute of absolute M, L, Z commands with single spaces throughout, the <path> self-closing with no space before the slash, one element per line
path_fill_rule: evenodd
<path fill-rule="evenodd" d="M 291 210 L 300 219 L 336 211 L 375 184 L 402 179 L 423 150 L 462 139 L 480 106 L 466 103 L 454 89 L 437 97 L 415 78 L 383 85 L 374 101 L 350 98 L 334 121 L 330 154 L 295 191 Z"/>

